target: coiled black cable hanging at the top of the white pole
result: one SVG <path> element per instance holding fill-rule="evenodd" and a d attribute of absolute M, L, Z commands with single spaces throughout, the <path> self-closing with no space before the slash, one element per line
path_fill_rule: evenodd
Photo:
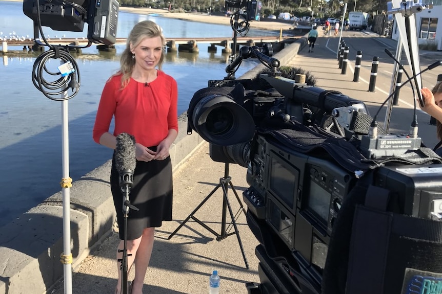
<path fill-rule="evenodd" d="M 42 35 L 42 38 L 45 42 L 45 44 L 49 47 L 48 51 L 45 51 L 44 53 L 40 54 L 34 62 L 34 65 L 32 67 L 32 83 L 34 86 L 43 93 L 47 98 L 55 101 L 63 101 L 68 100 L 74 97 L 78 94 L 80 84 L 81 84 L 81 78 L 80 78 L 80 72 L 78 70 L 78 64 L 75 61 L 75 59 L 72 57 L 72 55 L 69 53 L 67 48 L 59 47 L 59 46 L 52 46 L 48 43 L 46 40 L 43 29 L 42 29 L 42 22 L 40 18 L 40 10 L 39 8 L 39 1 L 36 0 L 36 6 L 37 6 L 37 25 L 38 30 L 40 34 Z M 72 67 L 72 71 L 70 73 L 67 73 L 66 75 L 63 75 L 61 72 L 51 72 L 48 70 L 46 63 L 50 59 L 61 59 L 61 64 L 70 64 L 69 66 Z M 44 78 L 44 74 L 47 74 L 49 76 L 59 76 L 57 80 L 55 81 L 47 81 Z M 72 89 L 72 94 L 67 96 L 68 89 Z M 66 97 L 53 97 L 55 95 L 62 95 L 65 94 Z"/>

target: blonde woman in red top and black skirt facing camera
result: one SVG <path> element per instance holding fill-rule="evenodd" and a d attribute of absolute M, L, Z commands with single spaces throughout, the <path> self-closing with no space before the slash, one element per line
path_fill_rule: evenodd
<path fill-rule="evenodd" d="M 138 22 L 127 39 L 120 57 L 120 69 L 106 82 L 93 128 L 95 142 L 115 149 L 116 136 L 126 132 L 134 136 L 136 167 L 130 202 L 139 210 L 127 215 L 128 271 L 134 264 L 135 278 L 131 294 L 141 294 L 152 253 L 154 231 L 162 221 L 172 220 L 172 165 L 170 145 L 177 137 L 177 84 L 162 69 L 166 39 L 162 28 L 150 20 Z M 109 126 L 114 118 L 113 133 Z M 110 186 L 117 215 L 120 242 L 117 250 L 120 294 L 122 273 L 119 269 L 124 248 L 123 193 L 112 159 Z"/>

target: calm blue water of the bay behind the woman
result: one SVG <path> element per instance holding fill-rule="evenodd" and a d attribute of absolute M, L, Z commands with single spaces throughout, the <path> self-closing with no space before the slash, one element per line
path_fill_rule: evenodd
<path fill-rule="evenodd" d="M 151 19 L 162 26 L 165 36 L 227 37 L 230 26 L 211 25 L 171 18 L 120 12 L 118 37 L 126 37 L 136 22 Z M 32 20 L 23 14 L 21 2 L 0 2 L 0 32 L 32 37 Z M 86 37 L 83 33 L 43 29 L 49 37 Z M 266 32 L 267 35 L 270 34 Z M 0 33 L 1 34 L 1 33 Z M 266 35 L 250 30 L 248 36 Z M 200 44 L 199 54 L 167 53 L 163 70 L 178 83 L 178 114 L 184 112 L 193 93 L 207 86 L 208 79 L 226 76 L 228 56 L 208 53 L 208 44 Z M 10 48 L 13 49 L 13 48 Z M 69 100 L 69 160 L 73 180 L 104 164 L 112 150 L 92 140 L 92 127 L 103 85 L 118 70 L 119 54 L 102 53 L 95 46 L 76 57 L 81 74 L 79 94 Z M 0 64 L 0 226 L 38 205 L 61 190 L 62 117 L 61 102 L 52 101 L 39 92 L 31 81 L 35 54 L 3 56 Z M 51 61 L 52 65 L 57 60 Z M 245 60 L 235 76 L 239 77 L 256 65 Z M 181 130 L 184 131 L 184 130 Z M 93 195 L 91 195 L 93 196 Z"/>

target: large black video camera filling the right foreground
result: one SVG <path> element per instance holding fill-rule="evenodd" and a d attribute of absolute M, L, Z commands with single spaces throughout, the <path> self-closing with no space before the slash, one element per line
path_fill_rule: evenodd
<path fill-rule="evenodd" d="M 247 223 L 260 294 L 442 291 L 442 159 L 412 134 L 387 134 L 365 104 L 257 58 L 255 79 L 209 80 L 188 132 L 216 162 L 247 167 Z M 293 75 L 291 75 L 293 77 Z M 437 233 L 435 233 L 437 232 Z"/>

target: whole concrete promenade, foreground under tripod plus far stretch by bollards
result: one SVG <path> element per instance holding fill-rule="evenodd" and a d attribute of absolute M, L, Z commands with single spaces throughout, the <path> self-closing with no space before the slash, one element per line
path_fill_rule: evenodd
<path fill-rule="evenodd" d="M 356 34 L 356 33 L 355 33 Z M 370 37 L 370 46 L 383 50 L 388 46 L 396 48 L 395 41 L 381 37 L 360 35 L 361 39 L 352 36 L 353 32 L 344 32 L 344 37 L 354 37 L 352 46 L 356 47 L 362 38 Z M 360 72 L 360 81 L 353 82 L 354 55 L 350 55 L 350 64 L 347 74 L 342 75 L 338 69 L 336 59 L 337 37 L 320 36 L 314 53 L 308 53 L 308 48 L 302 49 L 294 55 L 290 65 L 302 67 L 310 71 L 317 79 L 316 86 L 324 89 L 333 89 L 352 98 L 364 101 L 370 112 L 377 108 L 388 96 L 391 75 L 377 77 L 376 91 L 368 92 L 370 79 L 371 60 L 364 60 Z M 370 47 L 366 47 L 369 52 Z M 393 51 L 394 52 L 394 51 Z M 425 52 L 423 53 L 425 54 Z M 437 53 L 439 54 L 439 53 Z M 440 55 L 437 55 L 440 58 Z M 392 63 L 386 62 L 379 65 L 381 70 L 392 69 Z M 435 73 L 425 75 L 424 82 L 431 83 Z M 434 78 L 434 79 L 433 79 Z M 424 85 L 426 85 L 424 83 Z M 427 86 L 431 87 L 432 84 Z M 411 123 L 412 93 L 407 86 L 401 91 L 399 105 L 392 112 L 392 130 L 407 132 Z M 385 107 L 384 107 L 385 108 Z M 428 124 L 429 116 L 418 111 L 419 135 L 429 147 L 436 143 L 435 126 Z M 383 111 L 385 112 L 385 111 Z M 383 122 L 383 112 L 380 112 L 379 121 Z M 215 236 L 194 220 L 190 220 L 180 229 L 175 236 L 168 240 L 168 236 L 178 225 L 197 207 L 206 195 L 219 183 L 224 176 L 224 164 L 213 162 L 208 154 L 208 143 L 203 143 L 189 157 L 189 159 L 174 173 L 174 221 L 164 223 L 163 227 L 155 232 L 155 244 L 152 260 L 145 279 L 144 293 L 166 294 L 204 294 L 208 293 L 208 280 L 213 269 L 217 269 L 222 278 L 222 293 L 247 293 L 246 282 L 259 282 L 257 275 L 257 258 L 254 248 L 258 244 L 250 232 L 244 214 L 241 212 L 239 202 L 229 189 L 229 199 L 233 211 L 239 210 L 236 220 L 239 237 L 244 245 L 250 269 L 245 269 L 245 262 L 240 251 L 235 235 L 221 241 L 216 241 Z M 232 184 L 242 200 L 242 192 L 249 186 L 246 181 L 247 169 L 236 164 L 230 165 Z M 218 189 L 212 197 L 201 207 L 195 216 L 204 223 L 220 232 L 222 220 L 222 190 Z M 240 201 L 242 202 L 242 201 Z M 227 218 L 228 221 L 230 218 Z M 118 238 L 112 233 L 96 251 L 88 256 L 73 274 L 73 293 L 113 293 L 117 278 L 117 265 L 114 261 L 115 248 Z M 133 278 L 130 274 L 129 280 Z M 52 291 L 53 294 L 62 294 L 63 281 L 59 282 Z"/>

